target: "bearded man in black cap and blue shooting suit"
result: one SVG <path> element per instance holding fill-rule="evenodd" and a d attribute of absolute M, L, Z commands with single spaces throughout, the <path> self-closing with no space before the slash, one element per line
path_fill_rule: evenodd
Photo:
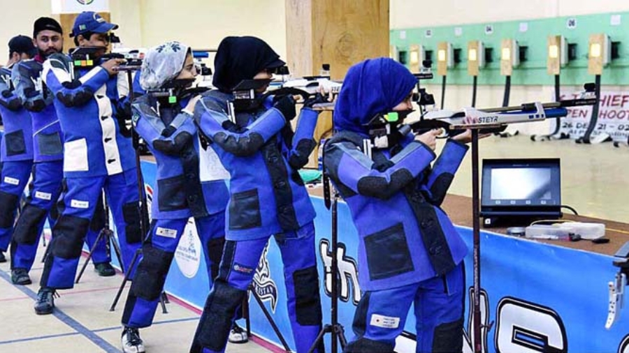
<path fill-rule="evenodd" d="M 56 203 L 62 190 L 63 133 L 59 118 L 52 104 L 54 98 L 45 87 L 41 77 L 43 62 L 51 54 L 63 50 L 64 40 L 59 22 L 50 17 L 40 17 L 34 23 L 33 38 L 38 54 L 31 60 L 22 60 L 13 67 L 12 78 L 15 94 L 20 97 L 24 108 L 31 114 L 34 151 L 33 178 L 20 217 L 15 223 L 11 240 L 11 280 L 17 285 L 31 283 L 29 271 L 35 261 L 40 234 L 45 218 L 55 224 Z M 87 246 L 92 249 L 99 231 L 103 227 L 102 209 L 97 211 L 86 237 Z M 100 221 L 103 220 L 103 221 Z M 99 243 L 92 252 L 94 269 L 100 276 L 113 276 L 115 271 L 110 264 L 105 242 Z"/>

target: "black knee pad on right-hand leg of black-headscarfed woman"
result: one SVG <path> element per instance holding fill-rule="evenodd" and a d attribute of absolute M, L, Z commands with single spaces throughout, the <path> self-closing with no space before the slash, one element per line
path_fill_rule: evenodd
<path fill-rule="evenodd" d="M 295 271 L 293 283 L 297 322 L 303 326 L 320 325 L 323 317 L 321 317 L 317 266 Z"/>

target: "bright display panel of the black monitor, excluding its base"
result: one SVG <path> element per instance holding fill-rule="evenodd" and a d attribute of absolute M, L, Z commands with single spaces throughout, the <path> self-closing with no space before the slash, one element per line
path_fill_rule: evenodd
<path fill-rule="evenodd" d="M 561 205 L 558 158 L 486 159 L 482 211 L 535 211 Z"/>

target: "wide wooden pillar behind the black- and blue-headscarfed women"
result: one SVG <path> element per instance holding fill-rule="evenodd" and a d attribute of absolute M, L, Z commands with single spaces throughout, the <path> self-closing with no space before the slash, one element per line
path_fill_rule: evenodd
<path fill-rule="evenodd" d="M 286 0 L 286 39 L 293 77 L 329 63 L 331 79 L 342 80 L 354 63 L 389 57 L 389 0 Z M 321 113 L 315 140 L 331 128 L 331 113 Z M 313 156 L 308 167 L 317 167 Z"/>

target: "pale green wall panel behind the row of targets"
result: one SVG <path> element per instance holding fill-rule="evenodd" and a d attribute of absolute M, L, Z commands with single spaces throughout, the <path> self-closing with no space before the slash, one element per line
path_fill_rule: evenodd
<path fill-rule="evenodd" d="M 620 16 L 620 23 L 612 25 L 612 15 Z M 617 17 L 616 17 L 617 18 Z M 568 28 L 569 19 L 576 20 L 576 27 Z M 526 23 L 527 31 L 520 31 L 521 24 Z M 493 26 L 493 33 L 486 33 L 486 26 Z M 460 29 L 460 36 L 455 31 Z M 432 36 L 427 38 L 426 31 Z M 405 31 L 405 33 L 403 33 Z M 467 47 L 470 40 L 482 40 L 485 47 L 493 48 L 493 62 L 487 63 L 478 76 L 479 84 L 504 84 L 505 77 L 500 75 L 500 42 L 505 38 L 518 40 L 521 47 L 526 46 L 527 61 L 514 68 L 513 85 L 554 84 L 554 78 L 548 75 L 547 37 L 552 35 L 565 36 L 568 43 L 577 43 L 577 59 L 561 70 L 561 83 L 583 84 L 593 82 L 588 75 L 588 40 L 594 33 L 607 33 L 612 42 L 620 42 L 619 59 L 613 60 L 602 74 L 602 84 L 629 85 L 629 13 L 608 13 L 573 17 L 554 17 L 543 20 L 521 20 L 494 22 L 486 24 L 462 24 L 446 27 L 419 27 L 391 30 L 391 45 L 398 50 L 409 52 L 410 45 L 424 45 L 426 50 L 433 51 L 433 72 L 436 77 L 436 56 L 439 42 L 452 43 L 455 49 L 461 49 L 461 62 L 448 69 L 449 84 L 472 84 L 472 77 L 467 71 Z M 402 39 L 401 37 L 404 36 Z M 407 54 L 408 57 L 408 54 Z"/>

